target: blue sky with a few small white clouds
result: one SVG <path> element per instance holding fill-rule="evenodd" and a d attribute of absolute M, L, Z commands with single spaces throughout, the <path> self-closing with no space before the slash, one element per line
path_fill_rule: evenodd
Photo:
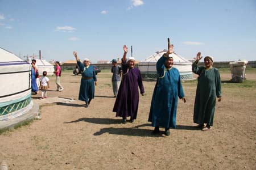
<path fill-rule="evenodd" d="M 191 59 L 256 59 L 256 1 L 0 0 L 0 46 L 19 56 L 39 53 L 65 61 L 122 57 L 133 45 L 142 60 L 166 49 Z"/>

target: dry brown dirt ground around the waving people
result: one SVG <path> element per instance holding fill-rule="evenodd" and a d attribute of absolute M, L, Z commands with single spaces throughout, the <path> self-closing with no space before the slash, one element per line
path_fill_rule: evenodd
<path fill-rule="evenodd" d="M 77 100 L 80 76 L 63 73 L 63 92 L 55 91 L 50 76 L 48 97 L 76 100 L 44 105 L 41 120 L 2 133 L 0 163 L 4 160 L 9 169 L 256 169 L 255 85 L 222 84 L 213 129 L 201 131 L 193 128 L 196 81 L 184 82 L 187 103 L 179 101 L 177 129 L 166 137 L 151 135 L 147 122 L 155 82 L 143 82 L 138 118 L 123 125 L 112 112 L 110 77 L 98 74 L 96 97 L 85 108 Z M 221 77 L 228 80 L 230 74 Z M 256 73 L 247 78 L 256 83 Z"/>

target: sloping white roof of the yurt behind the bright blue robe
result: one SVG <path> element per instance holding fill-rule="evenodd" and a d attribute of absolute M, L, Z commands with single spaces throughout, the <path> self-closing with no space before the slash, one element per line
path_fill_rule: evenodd
<path fill-rule="evenodd" d="M 146 59 L 143 59 L 140 63 L 155 63 L 166 52 L 167 52 L 167 50 L 160 50 L 158 52 L 155 52 L 150 57 L 147 57 Z M 174 63 L 191 63 L 187 59 L 181 57 L 180 55 L 178 55 L 176 53 L 172 53 L 169 56 L 174 58 Z"/>

